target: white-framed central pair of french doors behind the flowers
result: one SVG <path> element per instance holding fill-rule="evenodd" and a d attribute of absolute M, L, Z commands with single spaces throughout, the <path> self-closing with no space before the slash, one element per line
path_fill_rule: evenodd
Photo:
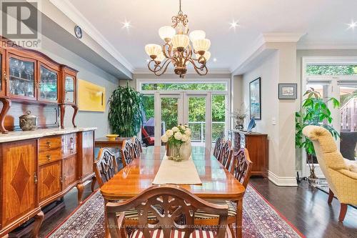
<path fill-rule="evenodd" d="M 161 145 L 161 135 L 178 124 L 191 128 L 191 142 L 211 148 L 212 143 L 212 96 L 211 92 L 179 93 L 159 92 L 154 94 L 155 145 Z"/>

